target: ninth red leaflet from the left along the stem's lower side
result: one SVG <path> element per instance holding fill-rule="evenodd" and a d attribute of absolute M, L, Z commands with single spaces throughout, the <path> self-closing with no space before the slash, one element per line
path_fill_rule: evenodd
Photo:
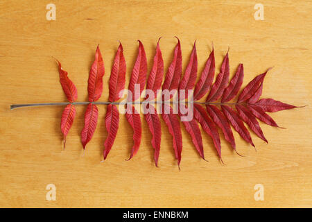
<path fill-rule="evenodd" d="M 231 126 L 227 122 L 227 119 L 222 112 L 216 108 L 215 105 L 206 105 L 209 116 L 214 120 L 214 123 L 218 125 L 223 131 L 225 139 L 231 144 L 232 148 L 236 151 L 235 139 L 231 130 Z"/>

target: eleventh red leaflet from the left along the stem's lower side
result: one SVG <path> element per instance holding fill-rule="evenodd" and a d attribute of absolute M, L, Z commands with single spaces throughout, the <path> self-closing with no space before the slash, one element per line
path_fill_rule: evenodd
<path fill-rule="evenodd" d="M 243 119 L 243 121 L 248 124 L 248 126 L 252 129 L 252 131 L 254 131 L 254 133 L 256 133 L 259 138 L 268 143 L 268 140 L 266 140 L 266 137 L 264 137 L 256 117 L 254 117 L 243 105 L 235 105 L 235 107 L 237 112 L 239 112 L 241 119 Z"/>

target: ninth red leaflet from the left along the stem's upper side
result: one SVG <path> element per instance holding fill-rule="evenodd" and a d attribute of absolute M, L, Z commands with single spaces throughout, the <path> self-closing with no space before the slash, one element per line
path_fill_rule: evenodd
<path fill-rule="evenodd" d="M 225 55 L 221 65 L 221 72 L 216 77 L 214 85 L 212 85 L 211 91 L 207 97 L 206 102 L 216 101 L 222 96 L 227 83 L 229 82 L 229 52 Z"/>

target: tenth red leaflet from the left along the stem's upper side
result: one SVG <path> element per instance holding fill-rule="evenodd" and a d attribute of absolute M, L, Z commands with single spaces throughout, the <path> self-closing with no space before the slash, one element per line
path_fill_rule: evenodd
<path fill-rule="evenodd" d="M 233 99 L 237 93 L 239 92 L 239 89 L 241 89 L 241 85 L 243 84 L 243 78 L 244 78 L 244 67 L 243 64 L 240 64 L 237 68 L 235 76 L 232 78 L 231 82 L 225 89 L 223 93 L 223 97 L 221 100 L 221 103 L 226 103 Z"/>

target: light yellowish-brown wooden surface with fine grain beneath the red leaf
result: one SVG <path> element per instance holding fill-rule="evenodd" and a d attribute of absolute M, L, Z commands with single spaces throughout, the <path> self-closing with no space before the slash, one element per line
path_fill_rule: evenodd
<path fill-rule="evenodd" d="M 56 20 L 46 20 L 51 1 L 0 2 L 0 207 L 311 207 L 311 1 L 261 1 L 264 21 L 254 19 L 258 1 L 53 1 Z M 112 151 L 101 163 L 105 105 L 98 105 L 96 133 L 83 157 L 80 132 L 85 106 L 77 115 L 62 151 L 60 118 L 63 107 L 10 110 L 11 104 L 65 102 L 58 70 L 62 62 L 87 101 L 87 78 L 100 44 L 105 62 L 103 96 L 114 53 L 123 43 L 126 85 L 144 43 L 150 71 L 155 45 L 160 46 L 165 71 L 176 40 L 182 42 L 183 68 L 197 40 L 201 72 L 211 51 L 216 67 L 228 46 L 231 76 L 239 62 L 247 84 L 268 67 L 262 98 L 274 98 L 305 108 L 271 114 L 286 130 L 261 123 L 269 144 L 252 133 L 257 152 L 234 133 L 236 155 L 223 135 L 220 164 L 211 139 L 202 133 L 205 155 L 200 159 L 182 126 L 181 171 L 173 143 L 162 121 L 159 168 L 146 121 L 139 153 L 129 162 L 132 130 L 121 116 Z M 46 185 L 56 186 L 56 200 L 46 200 Z M 254 200 L 254 185 L 264 187 L 264 200 Z"/>

